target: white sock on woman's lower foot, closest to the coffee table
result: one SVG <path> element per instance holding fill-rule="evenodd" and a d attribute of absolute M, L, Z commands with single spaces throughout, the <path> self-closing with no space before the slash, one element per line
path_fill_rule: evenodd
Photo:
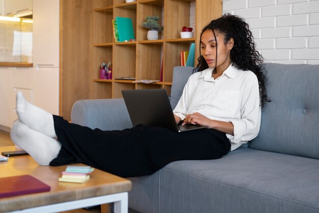
<path fill-rule="evenodd" d="M 61 149 L 58 140 L 29 128 L 19 120 L 13 123 L 10 136 L 14 144 L 28 152 L 40 165 L 48 165 Z"/>

